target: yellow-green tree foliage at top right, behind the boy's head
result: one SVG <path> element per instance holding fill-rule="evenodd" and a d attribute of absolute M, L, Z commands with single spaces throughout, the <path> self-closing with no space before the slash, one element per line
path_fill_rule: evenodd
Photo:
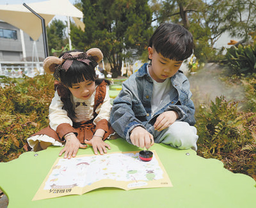
<path fill-rule="evenodd" d="M 225 32 L 248 39 L 256 29 L 255 0 L 163 0 L 152 1 L 154 20 L 175 22 L 189 29 L 200 61 L 214 57 L 214 44 Z M 157 9 L 156 9 L 157 8 Z"/>

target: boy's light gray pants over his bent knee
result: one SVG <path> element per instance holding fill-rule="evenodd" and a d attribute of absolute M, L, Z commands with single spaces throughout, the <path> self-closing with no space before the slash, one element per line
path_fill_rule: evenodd
<path fill-rule="evenodd" d="M 160 132 L 154 131 L 154 127 L 151 127 L 150 130 L 153 132 L 155 143 L 164 143 L 179 149 L 192 148 L 197 150 L 196 127 L 187 122 L 174 122 L 170 127 Z"/>

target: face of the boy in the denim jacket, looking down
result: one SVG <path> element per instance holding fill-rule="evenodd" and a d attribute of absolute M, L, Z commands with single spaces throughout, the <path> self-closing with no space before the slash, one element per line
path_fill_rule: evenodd
<path fill-rule="evenodd" d="M 164 58 L 154 47 L 148 47 L 148 58 L 152 60 L 152 66 L 148 68 L 150 76 L 157 83 L 163 83 L 165 79 L 176 74 L 183 62 Z"/>

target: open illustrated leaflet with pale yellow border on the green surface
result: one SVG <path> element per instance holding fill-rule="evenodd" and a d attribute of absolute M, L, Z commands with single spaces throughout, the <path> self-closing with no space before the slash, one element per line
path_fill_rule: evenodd
<path fill-rule="evenodd" d="M 144 162 L 139 152 L 113 152 L 104 155 L 59 157 L 53 164 L 33 200 L 65 195 L 82 195 L 93 189 L 172 187 L 156 151 L 151 161 Z"/>

